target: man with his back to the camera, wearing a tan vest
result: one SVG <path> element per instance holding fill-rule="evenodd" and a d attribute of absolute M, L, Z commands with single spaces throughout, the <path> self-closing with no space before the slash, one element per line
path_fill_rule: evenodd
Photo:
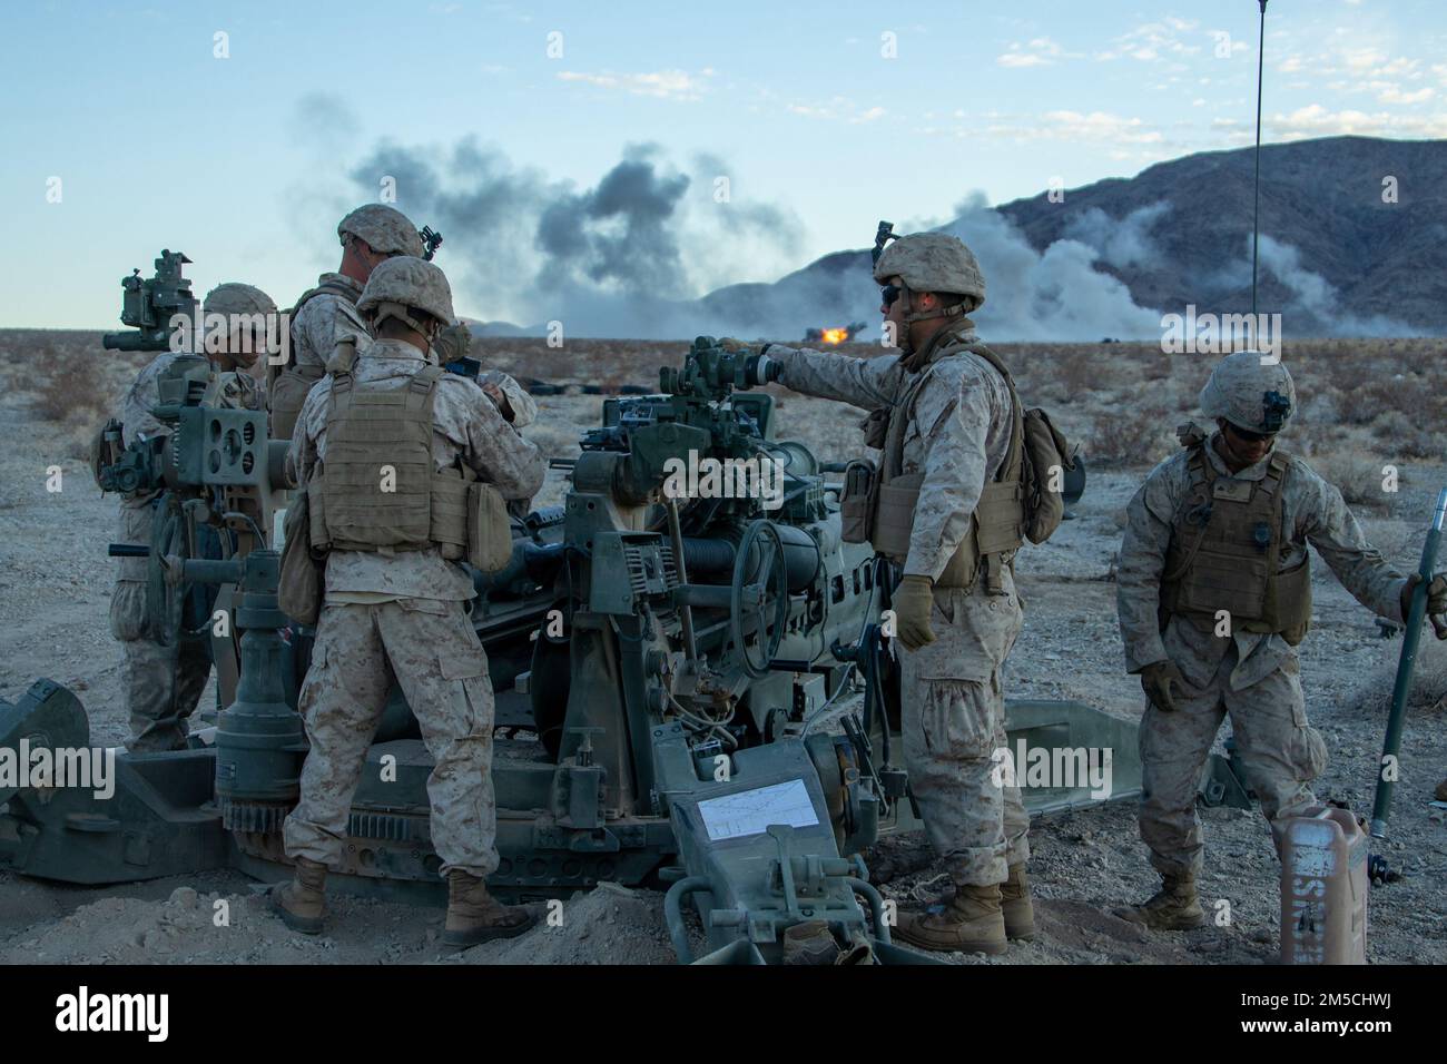
<path fill-rule="evenodd" d="M 443 272 L 415 258 L 389 259 L 373 271 L 357 307 L 376 327 L 378 339 L 359 352 L 350 372 L 339 371 L 311 389 L 291 447 L 300 482 L 308 492 L 321 492 L 328 533 L 336 536 L 341 528 L 349 540 L 369 534 L 394 541 L 388 539 L 388 523 L 401 523 L 405 514 L 372 517 L 373 511 L 385 511 L 385 497 L 353 499 L 346 482 L 328 491 L 327 478 L 343 476 L 344 459 L 368 478 L 375 475 L 373 465 L 381 470 L 396 462 L 398 478 L 405 478 L 401 444 L 369 443 L 368 433 L 349 421 L 368 397 L 376 401 L 383 392 L 408 394 L 427 381 L 433 381 L 433 466 L 449 469 L 460 460 L 504 498 L 532 495 L 546 472 L 538 449 L 475 384 L 441 373 L 428 360 L 431 340 L 451 320 L 451 292 Z M 337 413 L 337 395 L 344 394 L 355 398 L 346 401 L 350 405 L 344 413 Z M 336 450 L 341 446 L 337 440 L 346 442 L 346 450 L 328 462 L 328 443 Z M 375 453 L 356 457 L 369 446 Z M 399 489 L 405 486 L 399 479 Z M 425 515 L 425 489 L 418 504 Z M 350 525 L 340 515 L 347 507 Z M 436 763 L 427 793 L 431 838 L 449 880 L 444 941 L 470 945 L 521 934 L 531 925 L 527 912 L 499 905 L 483 884 L 483 877 L 498 867 L 491 776 L 493 698 L 486 654 L 463 611 L 472 596 L 467 573 L 446 560 L 436 543 L 405 550 L 331 550 L 315 647 L 300 699 L 311 750 L 302 766 L 301 801 L 285 824 L 287 854 L 297 863 L 297 877 L 273 893 L 273 905 L 294 929 L 321 929 L 326 871 L 340 861 L 352 795 L 394 679 Z"/>

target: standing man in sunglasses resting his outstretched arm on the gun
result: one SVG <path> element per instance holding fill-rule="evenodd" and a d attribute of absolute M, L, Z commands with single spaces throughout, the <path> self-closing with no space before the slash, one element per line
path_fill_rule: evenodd
<path fill-rule="evenodd" d="M 884 472 L 922 475 L 907 554 L 896 559 L 904 572 L 894 592 L 903 741 L 955 898 L 939 912 L 901 913 L 896 935 L 933 950 L 1001 953 L 1007 938 L 1035 934 L 1029 818 L 1019 789 L 997 783 L 993 760 L 1007 746 L 1001 669 L 1020 631 L 1020 598 L 1013 550 L 977 572 L 958 572 L 955 559 L 967 537 L 974 543 L 981 494 L 1001 472 L 1020 413 L 964 317 L 984 303 L 984 278 L 961 240 L 900 237 L 874 276 L 887 285 L 881 311 L 900 353 L 854 359 L 768 345 L 763 376 L 874 411 L 870 446 L 883 446 Z"/>

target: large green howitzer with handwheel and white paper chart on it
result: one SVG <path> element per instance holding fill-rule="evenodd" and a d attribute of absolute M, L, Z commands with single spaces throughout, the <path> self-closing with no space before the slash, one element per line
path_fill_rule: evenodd
<path fill-rule="evenodd" d="M 773 397 L 750 391 L 752 365 L 700 337 L 663 371 L 660 394 L 606 400 L 603 424 L 563 463 L 564 505 L 515 521 L 512 563 L 475 575 L 472 618 L 498 692 L 501 864 L 489 889 L 664 889 L 680 960 L 695 954 L 684 905 L 702 922 L 705 960 L 780 960 L 784 934 L 809 921 L 823 921 L 842 955 L 915 958 L 888 944 L 861 858 L 880 834 L 917 824 L 881 638 L 893 575 L 867 544 L 842 541 L 839 485 L 806 447 L 774 439 Z M 279 444 L 259 434 L 234 455 L 211 452 L 205 417 L 169 462 L 205 481 L 213 453 L 232 455 L 226 469 L 275 484 L 262 459 Z M 210 743 L 119 756 L 107 801 L 0 790 L 0 867 L 77 883 L 226 866 L 289 874 L 281 824 L 305 753 L 295 699 L 308 637 L 276 608 L 276 547 L 181 559 L 187 579 L 239 588 L 240 679 Z M 860 680 L 865 696 L 851 708 Z M 1114 751 L 1110 798 L 1139 792 L 1132 724 L 1032 701 L 1010 702 L 1009 721 L 1011 751 Z M 394 692 L 336 889 L 440 903 L 431 761 L 417 734 Z M 0 702 L 0 744 L 20 737 L 85 747 L 85 712 L 41 680 Z M 1100 801 L 1085 779 L 1030 786 L 1024 799 L 1035 812 Z"/>

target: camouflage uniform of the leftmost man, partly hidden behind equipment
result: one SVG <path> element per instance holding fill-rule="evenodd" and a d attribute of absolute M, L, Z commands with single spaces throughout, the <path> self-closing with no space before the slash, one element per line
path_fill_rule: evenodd
<path fill-rule="evenodd" d="M 161 402 L 158 381 L 181 352 L 156 355 L 136 376 L 126 392 L 120 420 L 126 443 L 142 437 L 169 436 L 171 428 L 156 420 L 150 408 Z M 117 543 L 150 546 L 156 501 L 161 492 L 123 495 Z M 120 641 L 124 656 L 126 712 L 130 717 L 132 753 L 182 750 L 187 744 L 187 718 L 195 711 L 211 675 L 211 657 L 204 643 L 178 638 L 169 647 L 156 643 L 146 628 L 145 557 L 122 557 L 116 589 L 110 598 L 110 634 Z"/>

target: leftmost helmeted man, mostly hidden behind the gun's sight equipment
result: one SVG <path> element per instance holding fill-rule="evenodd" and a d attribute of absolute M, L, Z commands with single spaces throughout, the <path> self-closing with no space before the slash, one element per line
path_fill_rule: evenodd
<path fill-rule="evenodd" d="M 273 316 L 276 304 L 259 288 L 227 282 L 207 294 L 203 313 Z M 260 343 L 265 343 L 265 330 Z M 262 349 L 250 326 L 229 330 L 224 343 L 211 346 L 214 350 L 208 352 L 208 358 L 220 371 L 216 381 L 217 394 L 211 401 L 256 408 L 259 395 L 255 388 L 236 382 L 237 371 L 255 363 Z M 127 443 L 171 434 L 171 427 L 152 414 L 152 407 L 161 402 L 158 389 L 161 376 L 182 353 L 168 350 L 153 358 L 126 392 L 120 420 Z M 161 492 L 122 497 L 119 543 L 150 546 L 159 498 Z M 188 735 L 187 719 L 195 711 L 211 675 L 211 656 L 205 643 L 195 637 L 174 637 L 171 646 L 155 638 L 146 620 L 148 559 L 119 560 L 120 572 L 110 599 L 110 631 L 120 641 L 124 656 L 126 712 L 130 718 L 130 740 L 126 747 L 137 754 L 184 750 Z"/>

